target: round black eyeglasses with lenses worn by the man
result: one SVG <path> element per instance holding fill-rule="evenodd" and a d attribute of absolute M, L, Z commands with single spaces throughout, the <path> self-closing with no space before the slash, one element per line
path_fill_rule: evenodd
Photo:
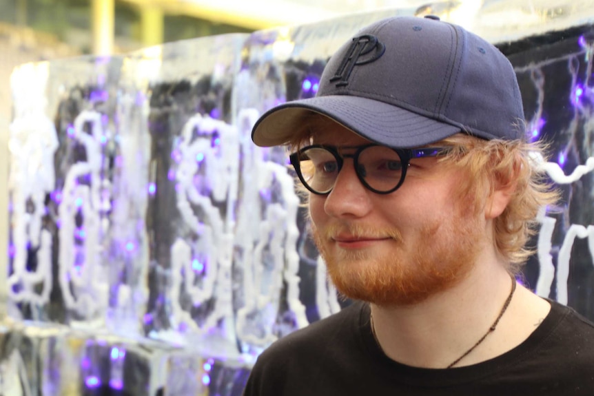
<path fill-rule="evenodd" d="M 371 144 L 349 148 L 356 148 L 356 152 L 340 154 L 338 147 L 311 145 L 291 154 L 289 160 L 301 183 L 314 194 L 332 191 L 345 158 L 353 158 L 362 185 L 376 194 L 389 194 L 404 182 L 411 159 L 437 156 L 450 147 L 393 149 Z"/>

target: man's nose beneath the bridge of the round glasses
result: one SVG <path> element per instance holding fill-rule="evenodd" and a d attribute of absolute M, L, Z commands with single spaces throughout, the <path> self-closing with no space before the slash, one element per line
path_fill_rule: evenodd
<path fill-rule="evenodd" d="M 334 218 L 360 218 L 371 211 L 371 191 L 357 177 L 352 160 L 345 160 L 334 188 L 324 202 L 325 212 Z"/>

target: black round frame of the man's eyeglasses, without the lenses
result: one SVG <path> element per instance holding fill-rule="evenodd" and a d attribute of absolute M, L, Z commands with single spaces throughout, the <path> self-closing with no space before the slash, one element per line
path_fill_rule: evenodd
<path fill-rule="evenodd" d="M 377 144 L 371 143 L 369 145 L 348 147 L 348 148 L 356 148 L 356 152 L 354 152 L 354 154 L 340 154 L 338 152 L 338 147 L 336 147 L 336 146 L 309 145 L 309 146 L 303 147 L 298 152 L 294 152 L 293 154 L 290 154 L 289 160 L 291 162 L 291 165 L 293 165 L 293 167 L 296 171 L 297 177 L 299 178 L 299 180 L 301 180 L 301 183 L 303 184 L 303 186 L 306 189 L 308 189 L 309 191 L 311 191 L 313 194 L 328 195 L 334 189 L 334 185 L 333 185 L 331 187 L 331 189 L 329 189 L 328 191 L 325 191 L 325 192 L 316 191 L 316 190 L 312 189 L 309 186 L 309 184 L 307 184 L 305 182 L 305 178 L 303 178 L 303 174 L 301 173 L 301 161 L 299 159 L 300 155 L 309 149 L 315 149 L 315 148 L 325 149 L 327 152 L 332 154 L 334 156 L 334 158 L 336 158 L 336 164 L 338 165 L 337 174 L 340 173 L 340 170 L 342 170 L 342 165 L 345 163 L 344 159 L 345 158 L 353 158 L 353 165 L 355 167 L 355 173 L 357 175 L 357 178 L 359 179 L 361 184 L 365 186 L 365 188 L 369 189 L 369 191 L 373 191 L 376 194 L 390 194 L 390 193 L 396 191 L 398 188 L 400 188 L 402 183 L 404 183 L 404 178 L 407 176 L 407 169 L 410 165 L 411 159 L 434 157 L 434 156 L 437 156 L 438 154 L 442 154 L 443 152 L 446 152 L 449 149 L 451 149 L 451 147 L 449 147 L 449 146 L 448 147 L 423 147 L 420 149 L 395 149 L 393 147 L 388 147 L 389 149 L 392 149 L 394 152 L 396 152 L 396 154 L 398 154 L 398 156 L 400 157 L 400 161 L 402 163 L 402 174 L 400 175 L 400 181 L 398 182 L 396 187 L 393 187 L 393 189 L 389 189 L 388 191 L 380 191 L 380 190 L 374 189 L 367 183 L 367 181 L 365 181 L 365 177 L 360 174 L 359 166 L 358 166 L 359 165 L 359 156 L 363 152 L 363 150 L 368 149 L 369 147 L 375 147 L 375 146 L 385 147 L 382 145 L 377 145 Z"/>

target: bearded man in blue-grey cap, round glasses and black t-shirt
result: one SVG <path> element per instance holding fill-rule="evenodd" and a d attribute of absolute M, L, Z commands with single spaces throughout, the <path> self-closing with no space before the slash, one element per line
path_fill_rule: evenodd
<path fill-rule="evenodd" d="M 370 25 L 264 114 L 357 302 L 268 348 L 245 395 L 594 395 L 593 325 L 516 284 L 556 199 L 523 125 L 509 61 L 436 17 Z"/>

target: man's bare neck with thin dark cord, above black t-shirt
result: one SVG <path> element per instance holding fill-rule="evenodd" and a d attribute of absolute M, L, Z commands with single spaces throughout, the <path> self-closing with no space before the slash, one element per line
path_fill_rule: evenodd
<path fill-rule="evenodd" d="M 491 359 L 524 341 L 550 309 L 547 302 L 518 285 L 495 331 L 487 333 L 508 300 L 511 287 L 504 267 L 493 263 L 491 267 L 475 266 L 452 289 L 419 304 L 371 304 L 378 344 L 388 357 L 403 364 L 447 368 L 487 334 L 455 366 Z"/>

